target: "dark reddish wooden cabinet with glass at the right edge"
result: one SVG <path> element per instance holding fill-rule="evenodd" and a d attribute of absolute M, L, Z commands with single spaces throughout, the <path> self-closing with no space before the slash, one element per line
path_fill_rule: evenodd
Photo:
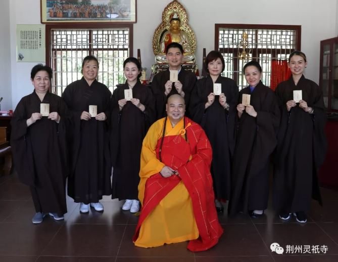
<path fill-rule="evenodd" d="M 338 111 L 338 37 L 320 41 L 319 86 L 328 111 Z"/>

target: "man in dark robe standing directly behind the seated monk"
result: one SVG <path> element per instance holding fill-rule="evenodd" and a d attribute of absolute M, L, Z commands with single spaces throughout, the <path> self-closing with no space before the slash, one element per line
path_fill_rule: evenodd
<path fill-rule="evenodd" d="M 190 94 L 197 80 L 196 75 L 181 67 L 183 48 L 179 43 L 171 42 L 166 49 L 169 69 L 156 74 L 152 81 L 152 91 L 156 101 L 156 119 L 165 117 L 167 98 L 179 94 L 184 98 L 188 109 Z M 170 70 L 178 70 L 178 81 L 170 81 Z M 189 112 L 186 112 L 189 116 Z"/>

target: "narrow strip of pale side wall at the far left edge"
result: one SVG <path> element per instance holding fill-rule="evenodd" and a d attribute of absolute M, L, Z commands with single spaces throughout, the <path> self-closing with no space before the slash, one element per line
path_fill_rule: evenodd
<path fill-rule="evenodd" d="M 12 91 L 11 91 L 11 55 L 10 55 L 10 0 L 3 0 L 0 8 L 0 97 L 3 101 L 0 103 L 1 110 L 12 108 Z"/>

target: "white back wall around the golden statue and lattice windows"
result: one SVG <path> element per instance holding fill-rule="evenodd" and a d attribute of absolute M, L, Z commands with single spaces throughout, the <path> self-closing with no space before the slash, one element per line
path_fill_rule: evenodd
<path fill-rule="evenodd" d="M 40 1 L 5 0 L 10 3 L 11 83 L 13 107 L 21 97 L 32 92 L 30 69 L 35 63 L 16 62 L 16 24 L 38 24 Z M 161 22 L 162 11 L 170 0 L 138 0 L 134 24 L 134 56 L 141 50 L 142 66 L 154 64 L 152 37 Z M 306 76 L 319 81 L 320 40 L 337 35 L 337 0 L 181 0 L 188 12 L 188 23 L 197 38 L 197 63 L 202 68 L 202 51 L 214 49 L 215 23 L 289 24 L 302 26 L 302 48 L 308 57 Z M 276 4 L 278 3 L 278 5 Z M 27 10 L 29 12 L 27 12 Z M 6 10 L 5 10 L 6 12 Z M 0 18 L 0 22 L 4 19 Z M 1 32 L 2 33 L 2 32 Z M 5 33 L 6 34 L 6 33 Z M 1 37 L 3 38 L 3 37 Z M 150 72 L 148 72 L 148 75 Z M 9 75 L 9 72 L 8 74 Z M 1 83 L 2 84 L 2 83 Z M 1 89 L 0 89 L 1 90 Z"/>

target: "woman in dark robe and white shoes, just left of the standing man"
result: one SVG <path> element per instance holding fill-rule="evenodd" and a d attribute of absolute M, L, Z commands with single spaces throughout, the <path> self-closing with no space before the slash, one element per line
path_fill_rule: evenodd
<path fill-rule="evenodd" d="M 136 58 L 127 58 L 123 70 L 127 81 L 113 92 L 112 99 L 112 198 L 125 199 L 122 209 L 135 213 L 139 210 L 142 141 L 155 120 L 155 101 L 151 89 L 139 81 L 141 65 Z M 125 98 L 125 91 L 132 92 L 130 100 Z"/>

